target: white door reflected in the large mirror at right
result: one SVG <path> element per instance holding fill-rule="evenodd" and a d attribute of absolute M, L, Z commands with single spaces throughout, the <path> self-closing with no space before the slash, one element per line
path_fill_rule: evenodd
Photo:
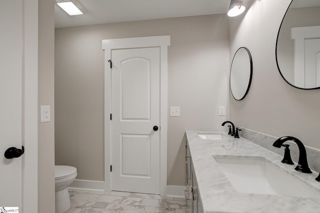
<path fill-rule="evenodd" d="M 304 40 L 304 72 L 307 88 L 320 86 L 320 38 Z"/>

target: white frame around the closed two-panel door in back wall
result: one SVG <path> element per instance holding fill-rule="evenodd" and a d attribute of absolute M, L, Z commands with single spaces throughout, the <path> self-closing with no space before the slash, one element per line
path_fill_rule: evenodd
<path fill-rule="evenodd" d="M 167 183 L 167 47 L 170 36 L 149 36 L 102 40 L 104 51 L 104 190 L 111 191 L 111 68 L 108 60 L 114 49 L 160 47 L 160 195 Z"/>

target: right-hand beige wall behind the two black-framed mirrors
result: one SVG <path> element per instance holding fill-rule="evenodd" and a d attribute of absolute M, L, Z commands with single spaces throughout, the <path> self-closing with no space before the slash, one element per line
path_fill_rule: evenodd
<path fill-rule="evenodd" d="M 291 0 L 255 0 L 245 15 L 229 21 L 230 59 L 240 46 L 251 52 L 253 76 L 241 101 L 229 96 L 230 119 L 238 126 L 272 136 L 294 136 L 320 148 L 320 90 L 288 85 L 275 61 L 279 25 Z"/>

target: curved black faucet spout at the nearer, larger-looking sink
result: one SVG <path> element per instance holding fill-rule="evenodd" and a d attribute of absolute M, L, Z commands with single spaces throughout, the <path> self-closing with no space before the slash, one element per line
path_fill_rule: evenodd
<path fill-rule="evenodd" d="M 302 173 L 312 173 L 308 167 L 308 162 L 306 160 L 305 148 L 299 139 L 291 137 L 291 136 L 284 136 L 284 137 L 281 137 L 281 138 L 278 138 L 277 140 L 275 140 L 272 146 L 274 146 L 276 148 L 280 148 L 281 145 L 286 141 L 295 142 L 299 148 L 299 160 L 298 160 L 298 165 L 295 167 L 295 170 L 298 172 L 302 172 Z"/>

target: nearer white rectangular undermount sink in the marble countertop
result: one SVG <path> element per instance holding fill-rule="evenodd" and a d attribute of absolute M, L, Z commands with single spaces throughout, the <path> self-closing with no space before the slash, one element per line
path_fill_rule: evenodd
<path fill-rule="evenodd" d="M 263 157 L 213 155 L 213 158 L 238 192 L 320 198 L 315 190 Z"/>

